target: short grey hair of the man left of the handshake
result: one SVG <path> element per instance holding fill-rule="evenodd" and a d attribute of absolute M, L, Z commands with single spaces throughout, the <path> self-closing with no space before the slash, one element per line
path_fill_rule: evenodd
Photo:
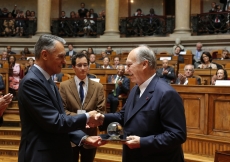
<path fill-rule="evenodd" d="M 42 50 L 47 50 L 50 53 L 53 52 L 55 50 L 55 44 L 57 42 L 60 42 L 63 45 L 66 43 L 63 38 L 55 35 L 41 35 L 34 46 L 35 59 L 40 58 Z"/>

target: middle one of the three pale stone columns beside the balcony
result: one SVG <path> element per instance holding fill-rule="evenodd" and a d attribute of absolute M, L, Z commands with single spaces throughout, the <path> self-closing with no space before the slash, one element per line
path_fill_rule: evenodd
<path fill-rule="evenodd" d="M 120 36 L 119 0 L 105 0 L 105 32 L 103 36 Z"/>

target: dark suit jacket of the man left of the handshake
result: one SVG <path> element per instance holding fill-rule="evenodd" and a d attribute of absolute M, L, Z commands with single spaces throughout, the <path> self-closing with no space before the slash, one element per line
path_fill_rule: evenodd
<path fill-rule="evenodd" d="M 18 105 L 21 119 L 19 162 L 72 161 L 70 141 L 79 144 L 86 115 L 67 116 L 61 96 L 56 96 L 44 75 L 32 66 L 20 81 Z M 71 133 L 69 133 L 71 132 Z"/>

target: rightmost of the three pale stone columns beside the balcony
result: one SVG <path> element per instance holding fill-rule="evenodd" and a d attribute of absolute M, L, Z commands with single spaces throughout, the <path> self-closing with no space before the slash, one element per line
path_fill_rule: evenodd
<path fill-rule="evenodd" d="M 176 0 L 175 29 L 173 34 L 190 34 L 190 0 Z"/>

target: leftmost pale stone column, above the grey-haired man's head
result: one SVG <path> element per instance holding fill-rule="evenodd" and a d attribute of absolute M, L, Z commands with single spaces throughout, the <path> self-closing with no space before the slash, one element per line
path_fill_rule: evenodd
<path fill-rule="evenodd" d="M 51 0 L 38 0 L 36 35 L 50 34 Z"/>

